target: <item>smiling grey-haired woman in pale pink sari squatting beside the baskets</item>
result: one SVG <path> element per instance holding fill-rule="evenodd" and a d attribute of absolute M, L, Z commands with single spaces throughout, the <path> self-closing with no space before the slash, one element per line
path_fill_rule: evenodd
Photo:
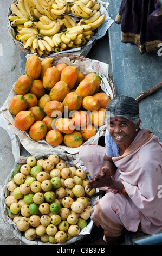
<path fill-rule="evenodd" d="M 105 147 L 86 145 L 80 159 L 92 188 L 105 190 L 92 208 L 92 220 L 104 230 L 103 240 L 118 244 L 124 228 L 154 234 L 162 230 L 162 143 L 140 129 L 138 102 L 118 95 L 106 108 Z"/>

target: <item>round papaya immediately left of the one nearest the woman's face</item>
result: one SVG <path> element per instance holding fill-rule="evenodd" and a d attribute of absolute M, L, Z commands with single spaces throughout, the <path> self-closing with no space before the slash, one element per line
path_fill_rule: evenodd
<path fill-rule="evenodd" d="M 89 124 L 89 115 L 84 110 L 75 111 L 72 115 L 72 120 L 75 122 L 75 127 L 85 128 Z"/>

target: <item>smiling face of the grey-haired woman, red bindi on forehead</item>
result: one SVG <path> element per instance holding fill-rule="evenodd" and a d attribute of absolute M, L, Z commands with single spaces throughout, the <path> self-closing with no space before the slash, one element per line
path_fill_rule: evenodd
<path fill-rule="evenodd" d="M 117 145 L 125 145 L 129 147 L 137 135 L 136 129 L 139 125 L 122 117 L 110 118 L 107 129 Z"/>

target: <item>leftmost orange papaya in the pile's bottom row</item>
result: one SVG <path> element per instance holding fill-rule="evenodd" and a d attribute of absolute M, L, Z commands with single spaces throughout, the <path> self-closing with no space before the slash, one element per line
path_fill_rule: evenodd
<path fill-rule="evenodd" d="M 33 125 L 31 125 L 29 130 L 29 136 L 33 139 L 33 141 L 40 141 L 44 139 L 47 134 L 47 125 L 42 121 L 36 121 Z"/>

